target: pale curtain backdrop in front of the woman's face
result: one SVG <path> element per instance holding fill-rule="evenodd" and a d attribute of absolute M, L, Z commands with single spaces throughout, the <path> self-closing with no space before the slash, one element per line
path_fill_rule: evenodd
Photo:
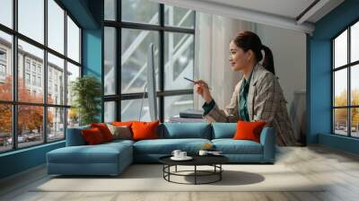
<path fill-rule="evenodd" d="M 241 73 L 234 72 L 229 63 L 229 44 L 241 30 L 253 31 L 253 23 L 208 13 L 196 13 L 195 78 L 212 88 L 216 104 L 223 109 L 232 97 Z M 204 100 L 195 92 L 194 107 L 201 109 Z"/>

